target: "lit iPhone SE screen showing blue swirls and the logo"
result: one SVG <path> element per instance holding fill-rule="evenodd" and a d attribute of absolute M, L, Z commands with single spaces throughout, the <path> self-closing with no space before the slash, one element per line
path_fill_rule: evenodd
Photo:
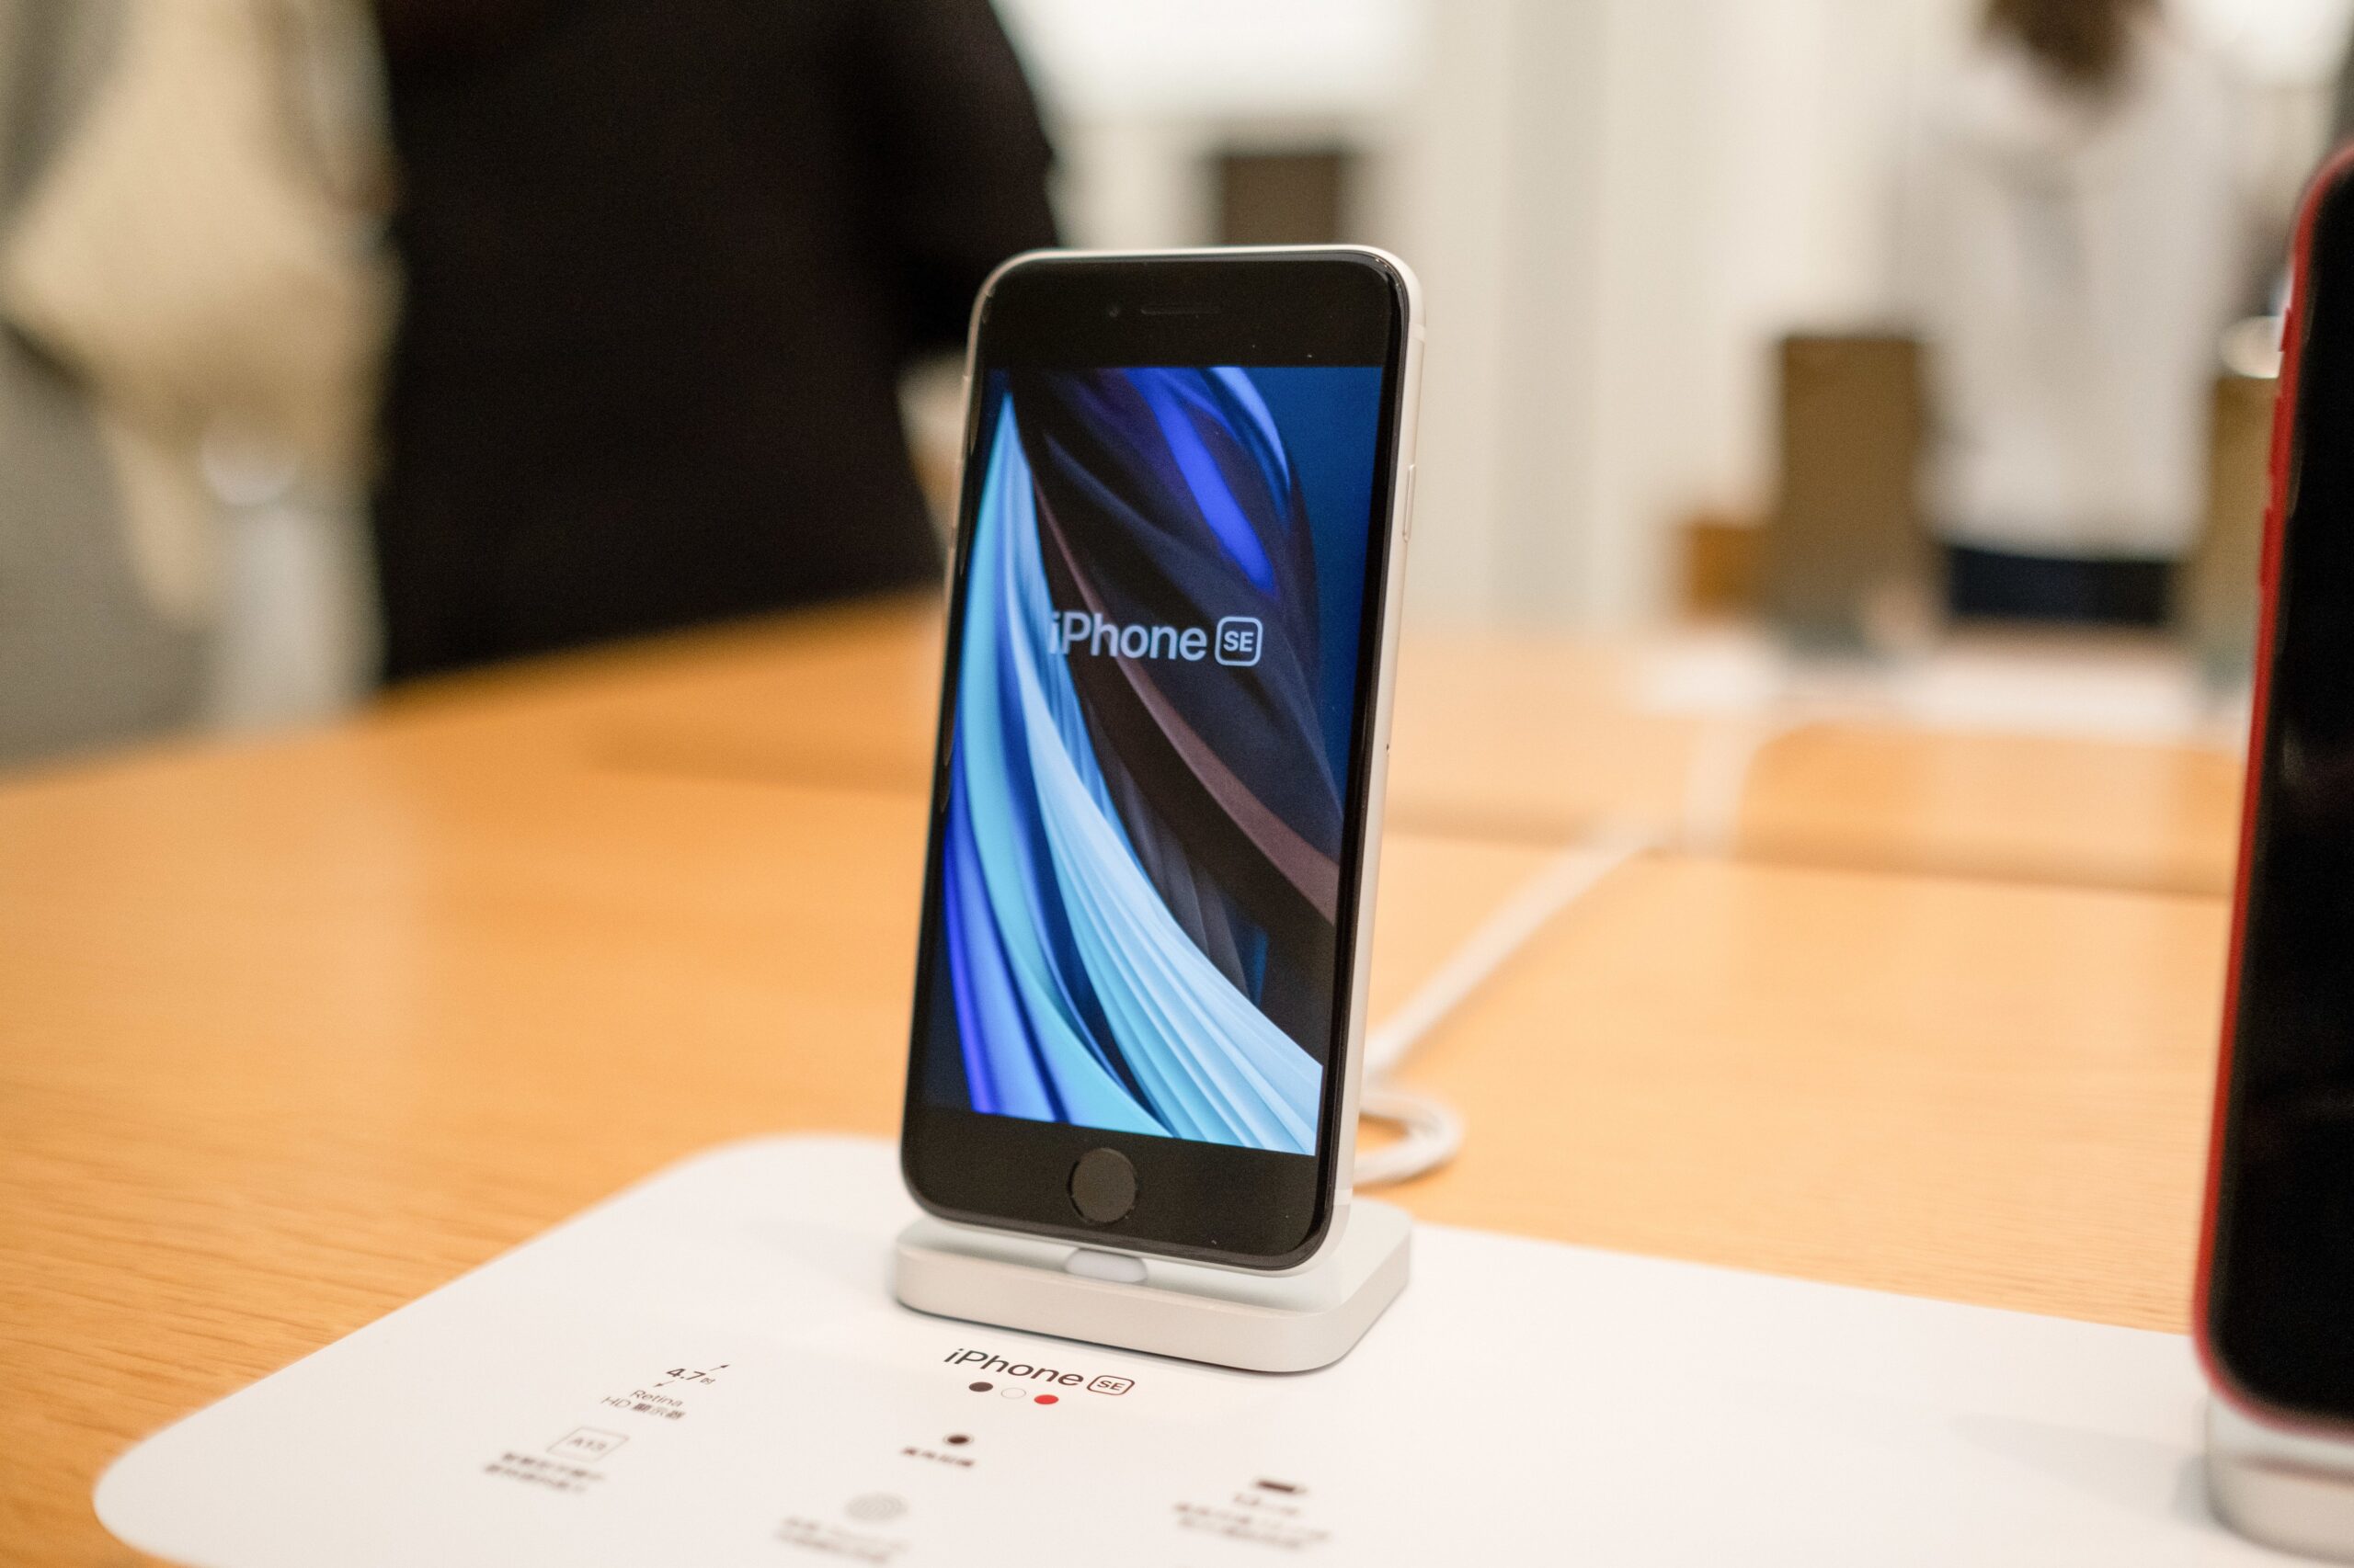
<path fill-rule="evenodd" d="M 1314 1154 L 1382 370 L 1012 370 L 925 986 L 949 1109 Z"/>

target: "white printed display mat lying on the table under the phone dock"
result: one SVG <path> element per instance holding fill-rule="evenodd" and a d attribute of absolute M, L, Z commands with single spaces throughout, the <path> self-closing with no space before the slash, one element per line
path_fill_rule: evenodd
<path fill-rule="evenodd" d="M 202 1568 L 2232 1568 L 2180 1335 L 1441 1224 L 1339 1363 L 890 1300 L 895 1151 L 687 1161 L 127 1453 Z M 0 1554 L 5 1556 L 5 1554 Z"/>

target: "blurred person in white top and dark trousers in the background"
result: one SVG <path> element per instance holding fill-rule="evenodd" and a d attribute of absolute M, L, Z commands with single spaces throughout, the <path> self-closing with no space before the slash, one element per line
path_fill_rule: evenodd
<path fill-rule="evenodd" d="M 1959 617 L 2161 624 L 2248 278 L 2234 99 L 2152 0 L 1991 0 L 1909 212 Z"/>

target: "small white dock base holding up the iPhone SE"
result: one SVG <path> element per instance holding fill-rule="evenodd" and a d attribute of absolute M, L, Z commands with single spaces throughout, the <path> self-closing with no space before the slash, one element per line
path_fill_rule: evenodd
<path fill-rule="evenodd" d="M 1306 1373 L 1346 1356 L 1396 1300 L 1410 1243 L 1405 1210 L 1363 1198 L 1349 1205 L 1339 1245 L 1299 1274 L 1139 1262 L 918 1220 L 899 1231 L 892 1293 L 944 1318 L 1248 1373 Z"/>

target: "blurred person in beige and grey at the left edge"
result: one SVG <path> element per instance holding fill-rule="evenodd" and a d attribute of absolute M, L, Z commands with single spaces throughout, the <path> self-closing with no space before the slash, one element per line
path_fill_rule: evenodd
<path fill-rule="evenodd" d="M 278 506 L 292 567 L 240 570 L 224 485 L 358 494 L 388 323 L 358 5 L 0 0 L 0 758 L 348 695 L 242 711 L 320 655 L 282 600 L 334 567 Z"/>

